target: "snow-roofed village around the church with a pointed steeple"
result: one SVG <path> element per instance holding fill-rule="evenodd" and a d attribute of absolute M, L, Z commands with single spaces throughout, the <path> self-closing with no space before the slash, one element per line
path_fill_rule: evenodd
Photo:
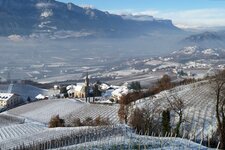
<path fill-rule="evenodd" d="M 73 85 L 60 86 L 54 85 L 50 89 L 41 89 L 32 85 L 22 83 L 11 83 L 5 92 L 0 93 L 1 110 L 8 110 L 14 107 L 39 100 L 54 99 L 77 99 L 83 102 L 92 103 L 118 103 L 120 97 L 134 91 L 132 85 L 139 86 L 139 82 L 124 83 L 121 86 L 109 85 L 107 83 L 90 83 L 88 73 L 84 77 L 84 82 Z"/>

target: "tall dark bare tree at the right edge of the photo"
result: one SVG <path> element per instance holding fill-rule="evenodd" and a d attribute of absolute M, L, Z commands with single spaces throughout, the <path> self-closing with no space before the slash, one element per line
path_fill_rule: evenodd
<path fill-rule="evenodd" d="M 225 70 L 217 73 L 215 78 L 211 79 L 211 84 L 216 96 L 216 119 L 220 148 L 225 149 Z"/>

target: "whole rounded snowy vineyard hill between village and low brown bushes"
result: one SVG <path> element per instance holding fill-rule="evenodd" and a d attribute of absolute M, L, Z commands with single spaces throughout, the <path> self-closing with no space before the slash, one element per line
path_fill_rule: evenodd
<path fill-rule="evenodd" d="M 98 116 L 108 117 L 112 123 L 119 123 L 118 105 L 88 104 L 72 99 L 44 100 L 23 105 L 7 113 L 47 124 L 52 116 L 59 115 L 66 122 L 73 118 L 85 119 Z"/>

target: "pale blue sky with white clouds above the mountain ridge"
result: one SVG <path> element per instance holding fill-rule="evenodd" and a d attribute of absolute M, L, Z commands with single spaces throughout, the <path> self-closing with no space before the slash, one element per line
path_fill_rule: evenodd
<path fill-rule="evenodd" d="M 182 28 L 225 26 L 225 0 L 59 0 L 114 14 L 171 19 Z"/>

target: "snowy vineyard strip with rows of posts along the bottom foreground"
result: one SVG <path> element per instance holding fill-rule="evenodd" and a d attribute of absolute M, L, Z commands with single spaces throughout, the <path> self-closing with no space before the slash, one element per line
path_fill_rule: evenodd
<path fill-rule="evenodd" d="M 45 129 L 0 145 L 1 149 L 207 149 L 181 138 L 140 136 L 124 126 Z"/>

